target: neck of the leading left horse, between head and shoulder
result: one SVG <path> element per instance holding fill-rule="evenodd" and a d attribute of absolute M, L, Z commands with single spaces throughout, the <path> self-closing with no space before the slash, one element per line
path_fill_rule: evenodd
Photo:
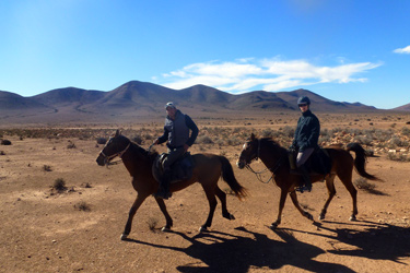
<path fill-rule="evenodd" d="M 151 174 L 153 163 L 151 157 L 136 144 L 131 144 L 128 153 L 122 155 L 122 162 L 132 177 Z"/>

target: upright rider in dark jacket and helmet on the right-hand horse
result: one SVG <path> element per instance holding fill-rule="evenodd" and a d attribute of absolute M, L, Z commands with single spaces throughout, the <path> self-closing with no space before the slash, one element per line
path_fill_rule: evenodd
<path fill-rule="evenodd" d="M 292 150 L 296 150 L 296 167 L 301 173 L 304 186 L 300 187 L 298 191 L 312 190 L 312 181 L 308 170 L 305 166 L 306 161 L 313 154 L 315 149 L 318 147 L 318 140 L 320 134 L 319 119 L 311 111 L 311 99 L 306 96 L 297 99 L 297 106 L 302 111 L 302 117 L 297 120 L 294 140 L 292 142 Z"/>

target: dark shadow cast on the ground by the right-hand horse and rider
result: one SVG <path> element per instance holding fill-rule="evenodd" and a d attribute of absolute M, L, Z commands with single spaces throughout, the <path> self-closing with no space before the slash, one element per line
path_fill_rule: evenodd
<path fill-rule="evenodd" d="M 362 257 L 371 260 L 389 260 L 407 264 L 400 260 L 410 257 L 410 227 L 396 226 L 390 224 L 380 224 L 370 221 L 358 221 L 352 224 L 352 228 L 329 228 L 325 224 L 347 225 L 347 223 L 337 223 L 323 221 L 315 223 L 318 230 L 325 229 L 333 235 L 320 233 L 306 233 L 304 230 L 286 229 L 293 233 L 304 233 L 328 238 L 331 250 L 329 253 L 349 257 Z M 364 227 L 358 230 L 358 226 Z M 349 245 L 349 246 L 345 246 Z M 354 249 L 352 248 L 354 247 Z M 408 260 L 407 260 L 408 262 Z"/>

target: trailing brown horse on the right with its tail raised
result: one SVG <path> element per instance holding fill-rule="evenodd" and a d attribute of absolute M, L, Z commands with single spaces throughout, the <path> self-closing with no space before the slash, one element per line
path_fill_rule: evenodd
<path fill-rule="evenodd" d="M 344 187 L 350 192 L 353 200 L 353 212 L 350 216 L 350 221 L 354 221 L 358 214 L 356 194 L 358 191 L 352 183 L 353 166 L 360 176 L 365 177 L 370 180 L 379 180 L 377 177 L 372 176 L 365 170 L 366 155 L 363 147 L 358 143 L 351 143 L 347 150 L 342 149 L 326 149 L 329 154 L 332 166 L 329 175 L 311 175 L 312 182 L 326 180 L 326 187 L 328 189 L 329 197 L 320 212 L 319 219 L 324 219 L 327 207 L 330 201 L 336 194 L 333 180 L 338 176 Z M 355 153 L 355 159 L 350 155 L 349 151 Z M 251 161 L 260 158 L 266 167 L 272 173 L 277 186 L 281 189 L 281 197 L 279 201 L 279 213 L 276 222 L 272 223 L 270 228 L 276 228 L 281 223 L 281 215 L 286 200 L 288 192 L 291 195 L 293 204 L 301 212 L 301 214 L 308 219 L 313 221 L 313 216 L 304 211 L 298 202 L 295 188 L 300 186 L 301 176 L 291 174 L 290 163 L 288 157 L 288 151 L 281 147 L 277 142 L 270 138 L 257 139 L 254 134 L 245 142 L 237 166 L 243 169 L 248 167 Z"/>

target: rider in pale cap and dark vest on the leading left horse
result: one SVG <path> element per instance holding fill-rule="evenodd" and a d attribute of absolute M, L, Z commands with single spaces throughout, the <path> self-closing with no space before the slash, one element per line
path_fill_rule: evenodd
<path fill-rule="evenodd" d="M 174 103 L 167 103 L 165 109 L 167 116 L 165 118 L 164 134 L 157 138 L 154 144 L 167 141 L 168 156 L 163 163 L 164 173 L 155 197 L 168 199 L 172 195 L 169 192 L 171 166 L 194 144 L 199 130 L 192 119 L 178 110 Z M 190 135 L 189 130 L 191 131 Z"/>

